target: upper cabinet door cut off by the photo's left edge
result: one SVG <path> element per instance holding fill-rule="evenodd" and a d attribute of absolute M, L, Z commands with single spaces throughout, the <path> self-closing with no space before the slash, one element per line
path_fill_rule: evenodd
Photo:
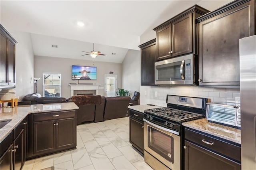
<path fill-rule="evenodd" d="M 8 39 L 1 34 L 1 45 L 0 45 L 0 85 L 8 85 L 7 81 L 7 42 Z"/>

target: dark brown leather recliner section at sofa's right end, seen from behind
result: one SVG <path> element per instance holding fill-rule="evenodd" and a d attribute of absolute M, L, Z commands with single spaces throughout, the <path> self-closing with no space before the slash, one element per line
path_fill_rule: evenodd
<path fill-rule="evenodd" d="M 126 117 L 130 99 L 128 96 L 106 97 L 103 120 Z"/>

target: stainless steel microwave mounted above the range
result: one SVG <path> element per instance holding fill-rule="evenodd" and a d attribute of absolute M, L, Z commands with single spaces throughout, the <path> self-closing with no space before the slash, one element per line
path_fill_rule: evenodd
<path fill-rule="evenodd" d="M 156 85 L 193 85 L 193 54 L 155 62 Z"/>

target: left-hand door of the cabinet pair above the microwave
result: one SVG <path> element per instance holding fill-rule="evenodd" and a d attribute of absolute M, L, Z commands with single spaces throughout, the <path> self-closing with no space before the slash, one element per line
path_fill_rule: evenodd
<path fill-rule="evenodd" d="M 167 25 L 156 32 L 156 60 L 170 58 L 171 25 Z"/>

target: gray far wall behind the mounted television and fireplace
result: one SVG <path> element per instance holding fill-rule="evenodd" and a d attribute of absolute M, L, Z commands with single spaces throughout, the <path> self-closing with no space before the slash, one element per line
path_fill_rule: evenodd
<path fill-rule="evenodd" d="M 43 94 L 43 73 L 61 73 L 61 94 L 62 97 L 70 97 L 70 86 L 69 83 L 78 83 L 78 80 L 72 80 L 72 65 L 83 65 L 83 66 L 95 66 L 97 67 L 97 80 L 80 80 L 79 83 L 93 83 L 98 84 L 103 89 L 99 89 L 99 95 L 104 94 L 104 76 L 113 71 L 117 75 L 119 80 L 122 79 L 122 64 L 120 63 L 108 63 L 100 61 L 89 61 L 79 59 L 67 59 L 58 57 L 45 57 L 35 56 L 35 77 L 40 77 L 38 80 L 37 92 Z M 122 82 L 117 81 L 117 87 L 122 87 Z"/>

